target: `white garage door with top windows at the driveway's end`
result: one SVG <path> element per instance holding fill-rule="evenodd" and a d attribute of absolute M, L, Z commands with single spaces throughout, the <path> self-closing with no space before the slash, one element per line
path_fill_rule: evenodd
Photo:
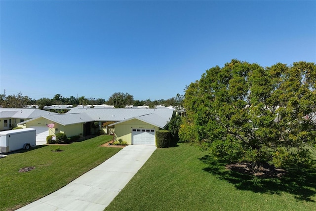
<path fill-rule="evenodd" d="M 132 129 L 132 144 L 155 146 L 155 129 Z"/>

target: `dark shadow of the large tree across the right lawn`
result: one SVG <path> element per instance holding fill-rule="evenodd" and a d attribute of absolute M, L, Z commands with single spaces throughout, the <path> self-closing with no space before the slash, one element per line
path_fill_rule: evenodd
<path fill-rule="evenodd" d="M 315 200 L 311 199 L 312 196 L 316 195 L 316 169 L 314 167 L 308 168 L 293 165 L 287 168 L 285 175 L 280 178 L 259 178 L 253 175 L 227 170 L 225 166 L 229 162 L 216 160 L 209 155 L 199 160 L 209 166 L 203 170 L 234 184 L 239 190 L 271 194 L 287 192 L 295 195 L 297 200 L 315 202 Z"/>

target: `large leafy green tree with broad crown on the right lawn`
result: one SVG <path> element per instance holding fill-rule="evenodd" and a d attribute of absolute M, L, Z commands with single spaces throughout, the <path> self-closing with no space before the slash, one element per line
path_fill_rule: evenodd
<path fill-rule="evenodd" d="M 187 87 L 180 138 L 254 168 L 306 161 L 316 142 L 315 82 L 308 62 L 213 67 Z"/>

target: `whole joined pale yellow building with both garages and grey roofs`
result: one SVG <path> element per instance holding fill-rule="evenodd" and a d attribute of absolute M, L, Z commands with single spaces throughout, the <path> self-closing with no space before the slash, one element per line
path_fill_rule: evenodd
<path fill-rule="evenodd" d="M 156 131 L 166 127 L 173 109 L 72 109 L 66 114 L 46 114 L 21 122 L 19 127 L 37 129 L 37 141 L 45 141 L 48 135 L 63 132 L 68 137 L 93 134 L 91 125 L 115 122 L 115 138 L 128 144 L 155 145 Z M 49 126 L 49 127 L 48 127 Z"/>

